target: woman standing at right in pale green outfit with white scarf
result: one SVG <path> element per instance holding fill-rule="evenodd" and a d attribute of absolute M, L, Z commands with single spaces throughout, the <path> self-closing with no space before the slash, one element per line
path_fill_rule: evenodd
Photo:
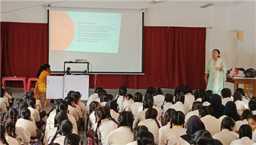
<path fill-rule="evenodd" d="M 224 59 L 220 58 L 220 50 L 213 50 L 213 58 L 210 59 L 206 66 L 206 90 L 221 95 L 226 80 L 227 65 Z"/>

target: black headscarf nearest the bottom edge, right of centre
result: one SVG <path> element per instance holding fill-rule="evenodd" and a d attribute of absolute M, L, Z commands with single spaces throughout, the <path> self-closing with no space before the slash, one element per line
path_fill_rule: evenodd
<path fill-rule="evenodd" d="M 192 137 L 193 134 L 195 134 L 198 130 L 205 130 L 205 129 L 206 129 L 205 125 L 203 124 L 203 122 L 198 116 L 193 115 L 189 117 L 188 129 L 186 131 L 186 134 Z"/>

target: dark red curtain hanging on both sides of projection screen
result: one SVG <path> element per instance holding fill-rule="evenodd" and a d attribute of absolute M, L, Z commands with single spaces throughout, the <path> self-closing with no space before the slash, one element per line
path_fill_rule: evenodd
<path fill-rule="evenodd" d="M 48 61 L 48 29 L 44 23 L 0 22 L 0 77 L 35 77 Z M 145 75 L 97 75 L 102 88 L 206 88 L 206 28 L 144 27 Z M 7 86 L 21 87 L 10 82 Z M 95 75 L 90 75 L 90 88 Z"/>

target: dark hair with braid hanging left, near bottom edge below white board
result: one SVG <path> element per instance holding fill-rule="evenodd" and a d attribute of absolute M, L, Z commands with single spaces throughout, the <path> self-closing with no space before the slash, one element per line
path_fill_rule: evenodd
<path fill-rule="evenodd" d="M 50 144 L 53 143 L 53 141 L 56 139 L 58 134 L 66 136 L 68 134 L 71 134 L 72 130 L 73 130 L 73 124 L 70 122 L 70 120 L 63 120 L 63 122 L 61 122 L 61 125 L 57 127 L 57 131 L 55 132 L 53 138 L 50 140 Z"/>

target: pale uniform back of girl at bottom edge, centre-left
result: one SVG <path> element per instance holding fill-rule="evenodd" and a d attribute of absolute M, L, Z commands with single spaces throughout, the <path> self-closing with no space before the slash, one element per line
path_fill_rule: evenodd
<path fill-rule="evenodd" d="M 130 127 L 119 127 L 107 135 L 106 145 L 125 145 L 134 141 L 134 134 Z"/>

